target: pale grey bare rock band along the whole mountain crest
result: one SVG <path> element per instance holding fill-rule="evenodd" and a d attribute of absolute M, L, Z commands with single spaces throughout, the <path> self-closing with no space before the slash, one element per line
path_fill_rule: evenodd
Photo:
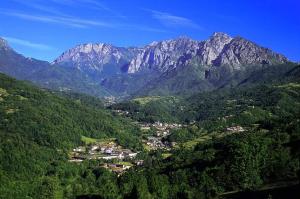
<path fill-rule="evenodd" d="M 205 70 L 226 66 L 230 71 L 249 65 L 274 65 L 288 62 L 287 58 L 267 48 L 243 39 L 214 33 L 205 41 L 187 37 L 152 42 L 143 48 L 120 48 L 110 44 L 83 44 L 58 57 L 53 64 L 75 67 L 89 73 L 109 70 L 113 73 L 163 73 L 189 64 Z"/>

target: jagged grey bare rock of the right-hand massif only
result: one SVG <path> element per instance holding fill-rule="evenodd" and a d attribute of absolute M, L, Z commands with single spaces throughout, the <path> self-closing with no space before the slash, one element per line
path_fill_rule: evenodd
<path fill-rule="evenodd" d="M 239 70 L 243 66 L 283 64 L 288 60 L 251 41 L 216 32 L 206 41 L 179 38 L 154 42 L 130 61 L 128 73 L 146 70 L 165 72 L 192 62 L 207 68 L 230 66 Z"/>

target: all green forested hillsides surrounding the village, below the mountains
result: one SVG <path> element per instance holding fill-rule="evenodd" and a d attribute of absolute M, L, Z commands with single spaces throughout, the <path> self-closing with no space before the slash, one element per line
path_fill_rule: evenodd
<path fill-rule="evenodd" d="M 128 111 L 123 116 L 112 116 L 96 98 L 5 75 L 0 82 L 0 198 L 239 198 L 245 191 L 280 198 L 278 189 L 299 196 L 297 78 L 110 107 Z M 164 138 L 176 147 L 147 151 L 135 120 L 184 126 Z M 144 163 L 118 176 L 99 166 L 103 160 L 68 162 L 82 135 L 116 138 L 139 150 Z"/>

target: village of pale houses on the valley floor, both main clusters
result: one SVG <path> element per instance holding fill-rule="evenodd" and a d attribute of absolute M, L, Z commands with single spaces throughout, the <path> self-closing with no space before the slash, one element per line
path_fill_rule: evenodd
<path fill-rule="evenodd" d="M 164 141 L 170 135 L 171 129 L 182 128 L 181 124 L 162 122 L 138 123 L 140 129 L 146 133 L 142 140 L 146 150 L 171 150 L 176 143 Z M 147 134 L 152 130 L 151 134 Z M 84 160 L 103 160 L 100 167 L 108 169 L 118 176 L 133 166 L 142 166 L 143 160 L 136 159 L 138 152 L 125 149 L 115 141 L 94 141 L 93 143 L 78 146 L 70 152 L 69 162 L 81 163 Z"/>

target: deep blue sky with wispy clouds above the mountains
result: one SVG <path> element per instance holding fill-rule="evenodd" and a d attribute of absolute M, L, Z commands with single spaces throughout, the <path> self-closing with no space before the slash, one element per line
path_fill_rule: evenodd
<path fill-rule="evenodd" d="M 226 32 L 300 61 L 299 10 L 298 0 L 1 0 L 0 37 L 53 61 L 80 43 L 143 46 Z"/>

